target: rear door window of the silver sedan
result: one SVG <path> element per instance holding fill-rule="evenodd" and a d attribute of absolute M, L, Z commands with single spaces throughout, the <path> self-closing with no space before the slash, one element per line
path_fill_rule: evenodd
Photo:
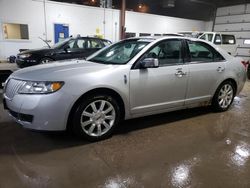
<path fill-rule="evenodd" d="M 191 62 L 215 62 L 222 61 L 224 58 L 206 43 L 199 41 L 187 41 L 190 52 Z"/>

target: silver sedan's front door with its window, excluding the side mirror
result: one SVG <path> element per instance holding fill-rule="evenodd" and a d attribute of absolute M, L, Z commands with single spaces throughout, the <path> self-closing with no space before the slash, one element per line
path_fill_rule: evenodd
<path fill-rule="evenodd" d="M 161 41 L 146 52 L 141 60 L 158 59 L 159 67 L 131 70 L 132 115 L 154 113 L 184 105 L 188 65 L 183 64 L 182 57 L 182 40 L 178 39 Z"/>

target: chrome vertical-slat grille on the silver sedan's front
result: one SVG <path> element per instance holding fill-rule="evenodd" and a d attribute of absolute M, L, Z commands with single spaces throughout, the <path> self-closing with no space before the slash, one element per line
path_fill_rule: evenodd
<path fill-rule="evenodd" d="M 20 87 L 25 84 L 25 81 L 10 79 L 5 86 L 5 95 L 9 99 L 13 99 L 13 97 L 17 94 Z"/>

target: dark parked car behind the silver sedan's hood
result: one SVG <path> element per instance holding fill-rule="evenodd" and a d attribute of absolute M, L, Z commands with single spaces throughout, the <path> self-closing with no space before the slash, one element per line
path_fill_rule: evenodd
<path fill-rule="evenodd" d="M 19 68 L 24 68 L 57 60 L 86 58 L 110 44 L 108 40 L 93 37 L 68 38 L 49 48 L 23 51 L 17 55 L 16 63 Z"/>

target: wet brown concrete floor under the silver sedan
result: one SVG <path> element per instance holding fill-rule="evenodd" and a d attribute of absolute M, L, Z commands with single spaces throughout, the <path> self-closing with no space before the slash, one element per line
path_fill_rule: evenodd
<path fill-rule="evenodd" d="M 249 92 L 228 112 L 130 120 L 97 143 L 22 129 L 1 103 L 0 187 L 250 187 Z"/>

